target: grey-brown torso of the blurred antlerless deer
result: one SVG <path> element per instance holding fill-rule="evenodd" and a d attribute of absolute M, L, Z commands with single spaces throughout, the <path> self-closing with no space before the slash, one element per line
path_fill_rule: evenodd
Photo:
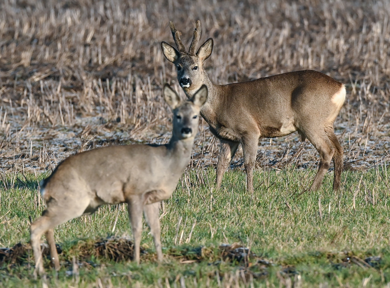
<path fill-rule="evenodd" d="M 93 199 L 84 204 L 89 214 L 102 204 L 124 203 L 134 195 L 145 192 L 151 195 L 154 191 L 164 191 L 169 197 L 188 165 L 192 145 L 192 141 L 187 140 L 155 147 L 111 146 L 70 156 L 47 179 L 42 196 L 50 200 L 53 196 L 46 194 L 46 191 L 61 189 L 65 193 L 54 197 L 64 201 L 69 197 L 68 193 L 74 191 L 73 186 L 78 187 L 79 197 L 85 194 L 86 199 Z"/>

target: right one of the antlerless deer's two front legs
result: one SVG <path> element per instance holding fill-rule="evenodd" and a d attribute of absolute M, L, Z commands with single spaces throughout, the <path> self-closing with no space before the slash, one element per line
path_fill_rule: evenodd
<path fill-rule="evenodd" d="M 145 205 L 143 208 L 145 214 L 146 223 L 148 223 L 150 228 L 150 233 L 153 236 L 155 242 L 157 260 L 158 262 L 162 261 L 162 250 L 161 250 L 161 230 L 160 230 L 160 219 L 158 208 L 160 206 L 159 202 Z"/>

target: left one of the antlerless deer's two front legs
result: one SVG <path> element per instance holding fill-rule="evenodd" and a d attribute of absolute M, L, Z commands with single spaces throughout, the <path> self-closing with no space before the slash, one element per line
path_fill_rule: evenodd
<path fill-rule="evenodd" d="M 132 195 L 132 197 L 127 201 L 127 209 L 129 211 L 131 229 L 134 236 L 133 260 L 137 262 L 137 264 L 139 264 L 139 246 L 141 244 L 141 234 L 142 234 L 142 211 L 143 211 L 142 195 Z"/>

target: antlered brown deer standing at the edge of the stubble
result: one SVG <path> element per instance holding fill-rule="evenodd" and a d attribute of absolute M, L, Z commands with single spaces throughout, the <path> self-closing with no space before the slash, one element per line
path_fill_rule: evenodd
<path fill-rule="evenodd" d="M 311 191 L 318 190 L 331 160 L 334 165 L 333 190 L 340 188 L 343 148 L 334 134 L 333 123 L 346 97 L 343 83 L 313 70 L 295 71 L 252 81 L 218 85 L 211 82 L 204 61 L 213 52 L 213 38 L 196 51 L 200 39 L 200 21 L 195 23 L 193 39 L 186 51 L 181 33 L 169 23 L 176 48 L 161 42 L 168 61 L 176 66 L 177 80 L 187 97 L 202 85 L 209 89 L 200 115 L 220 140 L 216 165 L 216 189 L 229 168 L 239 144 L 244 154 L 246 189 L 254 192 L 253 170 L 257 146 L 262 137 L 281 137 L 298 132 L 319 153 L 320 161 Z"/>

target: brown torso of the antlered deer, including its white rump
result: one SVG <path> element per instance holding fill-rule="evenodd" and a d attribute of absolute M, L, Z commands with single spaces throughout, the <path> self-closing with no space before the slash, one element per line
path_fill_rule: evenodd
<path fill-rule="evenodd" d="M 323 82 L 314 82 L 318 79 Z M 286 80 L 290 81 L 289 85 L 285 85 Z M 307 87 L 306 81 L 313 83 Z M 334 82 L 334 86 L 318 95 L 316 91 L 327 81 Z M 305 130 L 305 126 L 315 122 L 332 122 L 337 116 L 335 110 L 341 108 L 345 98 L 343 84 L 311 70 L 242 83 L 213 84 L 211 91 L 214 93 L 210 93 L 200 113 L 216 137 L 231 141 L 240 141 L 245 133 L 256 128 L 262 137 L 281 137 Z M 313 104 L 323 109 L 312 111 Z M 314 123 L 308 123 L 308 119 Z"/>

